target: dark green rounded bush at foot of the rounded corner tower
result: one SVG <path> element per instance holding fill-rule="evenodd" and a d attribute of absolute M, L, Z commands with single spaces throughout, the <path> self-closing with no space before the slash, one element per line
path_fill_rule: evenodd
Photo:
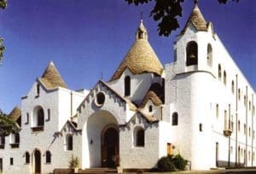
<path fill-rule="evenodd" d="M 184 171 L 187 160 L 183 159 L 180 154 L 175 156 L 168 154 L 166 157 L 159 159 L 157 167 L 159 171 Z"/>

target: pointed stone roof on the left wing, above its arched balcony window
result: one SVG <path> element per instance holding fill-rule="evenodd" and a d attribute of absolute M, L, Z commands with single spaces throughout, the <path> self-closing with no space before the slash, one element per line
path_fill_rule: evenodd
<path fill-rule="evenodd" d="M 50 61 L 49 66 L 44 70 L 42 78 L 39 80 L 48 88 L 53 89 L 56 87 L 67 88 L 64 80 L 61 78 L 61 74 L 55 68 L 55 64 Z"/>

